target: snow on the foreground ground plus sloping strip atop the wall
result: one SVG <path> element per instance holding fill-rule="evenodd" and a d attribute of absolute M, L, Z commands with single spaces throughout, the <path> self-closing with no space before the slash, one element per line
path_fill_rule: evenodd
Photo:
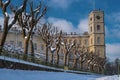
<path fill-rule="evenodd" d="M 117 75 L 103 76 L 88 72 L 64 70 L 64 69 L 44 66 L 40 64 L 35 64 L 31 62 L 26 62 L 14 58 L 8 58 L 5 56 L 0 56 L 0 59 L 63 71 L 63 72 L 46 72 L 46 71 L 35 71 L 35 70 L 27 71 L 27 70 L 11 70 L 11 69 L 0 68 L 0 80 L 16 80 L 16 79 L 17 80 L 120 80 L 120 77 L 118 77 Z M 79 73 L 79 74 L 75 74 L 75 73 Z"/>

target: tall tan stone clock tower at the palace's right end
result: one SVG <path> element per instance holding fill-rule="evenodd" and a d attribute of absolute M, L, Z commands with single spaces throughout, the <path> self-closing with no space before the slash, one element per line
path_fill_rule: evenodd
<path fill-rule="evenodd" d="M 104 12 L 101 10 L 89 14 L 89 51 L 105 58 Z"/>

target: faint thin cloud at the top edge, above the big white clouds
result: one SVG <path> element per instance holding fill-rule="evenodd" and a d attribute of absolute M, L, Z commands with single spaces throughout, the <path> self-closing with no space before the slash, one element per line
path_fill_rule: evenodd
<path fill-rule="evenodd" d="M 72 3 L 77 2 L 78 0 L 49 0 L 48 5 L 54 8 L 68 8 Z"/>

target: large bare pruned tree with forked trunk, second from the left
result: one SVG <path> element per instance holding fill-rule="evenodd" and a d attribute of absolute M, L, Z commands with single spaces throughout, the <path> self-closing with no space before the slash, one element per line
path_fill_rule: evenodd
<path fill-rule="evenodd" d="M 32 42 L 32 33 L 33 29 L 37 25 L 38 21 L 45 15 L 47 11 L 47 7 L 45 6 L 41 12 L 41 3 L 38 5 L 37 8 L 34 9 L 33 2 L 30 3 L 30 12 L 29 13 L 21 13 L 19 15 L 18 23 L 22 27 L 23 39 L 24 39 L 24 59 L 27 59 L 28 54 L 28 44 L 29 40 L 31 43 L 31 54 L 34 56 L 34 48 Z"/>

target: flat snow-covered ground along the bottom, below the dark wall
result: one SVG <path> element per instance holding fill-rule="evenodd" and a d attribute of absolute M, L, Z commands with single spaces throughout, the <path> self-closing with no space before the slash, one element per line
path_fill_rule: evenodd
<path fill-rule="evenodd" d="M 100 76 L 66 72 L 0 69 L 0 80 L 120 80 L 117 75 Z"/>

